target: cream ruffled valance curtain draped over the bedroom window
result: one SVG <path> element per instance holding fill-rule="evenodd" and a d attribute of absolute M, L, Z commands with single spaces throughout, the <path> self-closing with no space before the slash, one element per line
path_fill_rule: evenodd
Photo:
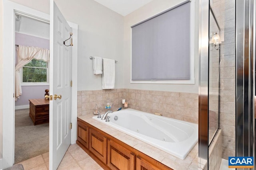
<path fill-rule="evenodd" d="M 48 49 L 19 45 L 17 51 L 17 64 L 15 66 L 15 101 L 20 98 L 20 95 L 22 94 L 19 74 L 20 68 L 29 63 L 32 59 L 48 62 L 49 56 L 50 51 Z"/>

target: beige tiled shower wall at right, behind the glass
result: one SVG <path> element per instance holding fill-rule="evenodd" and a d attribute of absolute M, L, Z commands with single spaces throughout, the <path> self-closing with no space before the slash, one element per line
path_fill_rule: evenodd
<path fill-rule="evenodd" d="M 235 156 L 235 0 L 214 0 L 221 27 L 220 129 L 223 158 Z"/>

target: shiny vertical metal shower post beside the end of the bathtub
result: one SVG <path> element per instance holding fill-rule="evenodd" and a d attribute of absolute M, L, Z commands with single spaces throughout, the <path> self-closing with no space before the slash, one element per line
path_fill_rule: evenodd
<path fill-rule="evenodd" d="M 209 1 L 199 1 L 198 163 L 208 170 Z"/>

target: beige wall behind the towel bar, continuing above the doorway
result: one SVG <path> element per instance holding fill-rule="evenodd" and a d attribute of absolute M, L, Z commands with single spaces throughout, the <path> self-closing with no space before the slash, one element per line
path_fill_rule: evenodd
<path fill-rule="evenodd" d="M 49 14 L 48 0 L 11 0 Z M 115 88 L 123 88 L 124 17 L 94 0 L 55 0 L 66 20 L 78 24 L 78 90 L 102 89 L 102 76 L 93 74 L 90 56 L 118 61 Z"/>

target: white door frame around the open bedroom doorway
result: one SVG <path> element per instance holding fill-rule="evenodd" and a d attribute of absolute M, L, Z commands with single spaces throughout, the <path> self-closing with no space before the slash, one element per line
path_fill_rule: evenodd
<path fill-rule="evenodd" d="M 50 6 L 49 6 L 50 8 Z M 9 0 L 3 0 L 3 152 L 2 167 L 8 168 L 14 164 L 14 70 L 15 70 L 15 11 L 29 14 L 50 21 L 50 15 L 34 10 L 27 6 L 16 4 Z M 72 48 L 72 81 L 71 89 L 71 144 L 76 143 L 76 123 L 77 123 L 77 60 L 78 60 L 78 25 L 68 22 L 73 32 Z"/>

